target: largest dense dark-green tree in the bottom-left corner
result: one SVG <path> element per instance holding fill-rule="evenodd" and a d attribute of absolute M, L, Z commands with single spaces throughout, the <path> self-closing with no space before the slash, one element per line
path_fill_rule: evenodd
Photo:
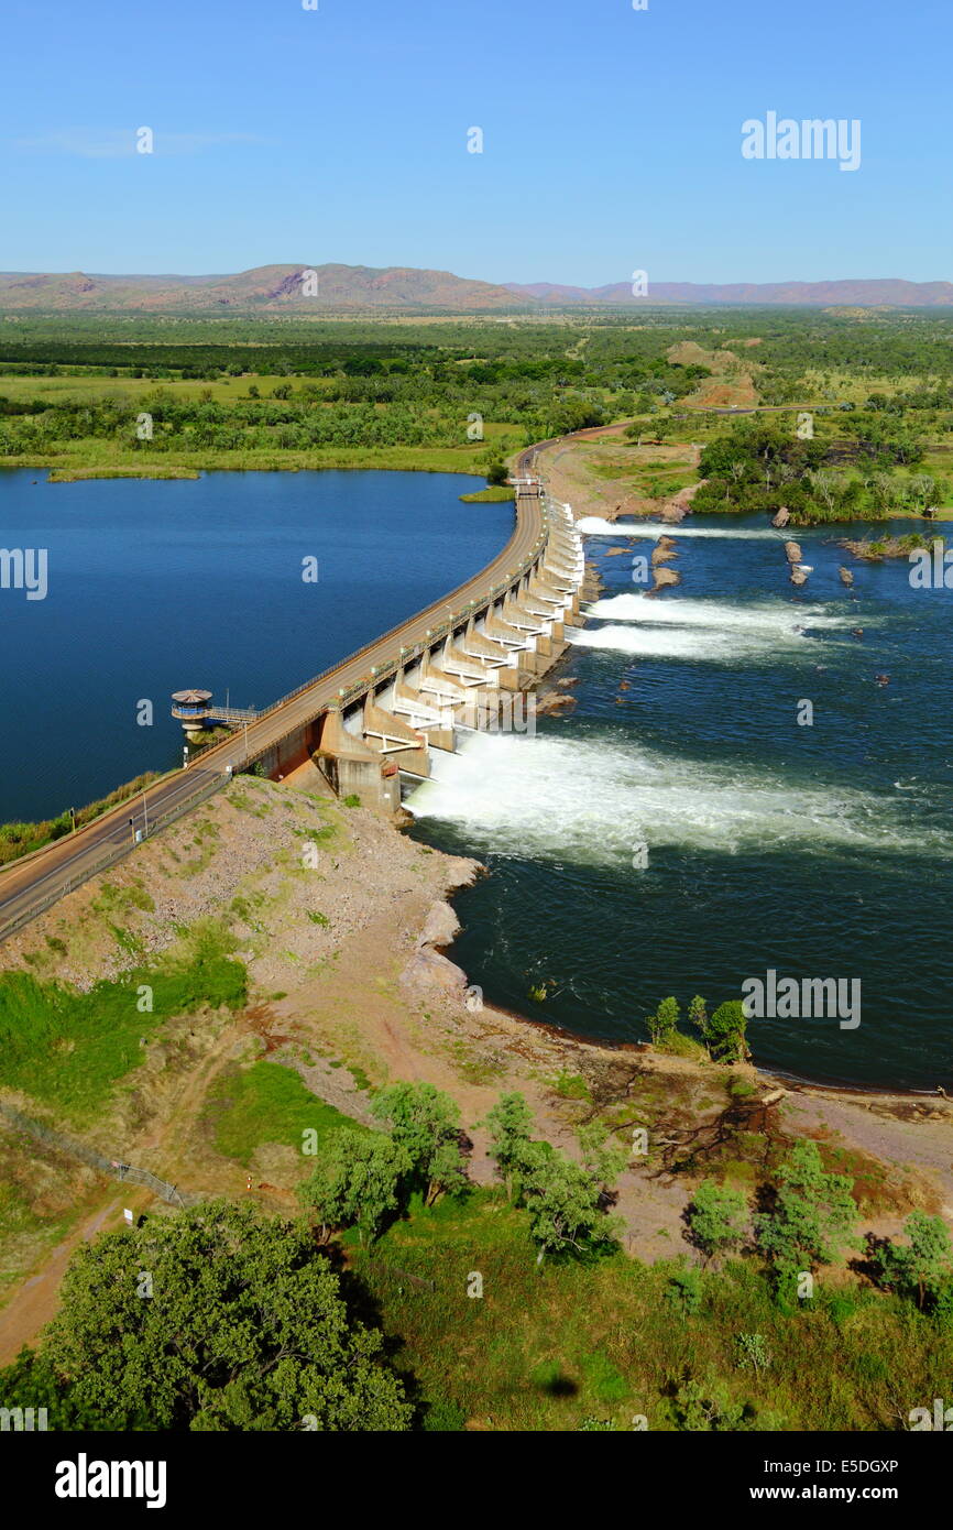
<path fill-rule="evenodd" d="M 99 1429 L 408 1429 L 311 1232 L 207 1203 L 81 1247 L 41 1359 Z M 311 1417 L 309 1417 L 311 1415 Z"/>

